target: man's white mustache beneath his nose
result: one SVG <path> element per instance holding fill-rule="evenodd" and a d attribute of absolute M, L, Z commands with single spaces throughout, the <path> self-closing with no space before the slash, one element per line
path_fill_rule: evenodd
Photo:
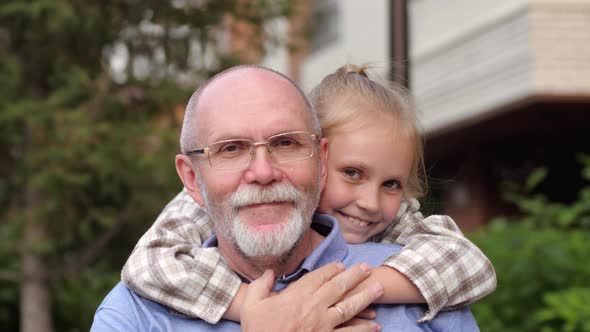
<path fill-rule="evenodd" d="M 253 185 L 233 193 L 229 198 L 229 204 L 237 209 L 253 204 L 297 202 L 299 197 L 299 191 L 286 183 L 276 183 L 272 186 Z"/>

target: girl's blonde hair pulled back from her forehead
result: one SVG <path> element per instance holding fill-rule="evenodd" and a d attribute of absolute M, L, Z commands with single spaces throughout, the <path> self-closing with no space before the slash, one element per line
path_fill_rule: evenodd
<path fill-rule="evenodd" d="M 369 77 L 367 69 L 344 65 L 310 92 L 322 132 L 330 137 L 335 130 L 366 116 L 367 112 L 393 116 L 397 127 L 414 144 L 414 160 L 404 195 L 423 196 L 426 192 L 424 149 L 414 104 L 404 87 L 391 82 L 379 83 Z"/>

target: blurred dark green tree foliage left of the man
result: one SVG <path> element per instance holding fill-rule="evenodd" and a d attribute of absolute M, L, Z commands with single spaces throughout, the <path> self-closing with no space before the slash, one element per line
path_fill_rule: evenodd
<path fill-rule="evenodd" d="M 182 105 L 199 81 L 242 61 L 228 24 L 247 24 L 258 41 L 250 47 L 262 48 L 265 22 L 288 9 L 269 0 L 0 4 L 0 325 L 18 328 L 16 287 L 38 278 L 51 289 L 54 326 L 88 329 L 134 242 L 181 188 Z M 27 275 L 26 255 L 42 275 Z"/>

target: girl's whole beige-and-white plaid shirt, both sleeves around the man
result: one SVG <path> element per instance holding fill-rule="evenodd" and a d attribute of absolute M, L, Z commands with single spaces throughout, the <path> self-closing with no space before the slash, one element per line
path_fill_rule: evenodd
<path fill-rule="evenodd" d="M 425 321 L 494 291 L 496 273 L 450 217 L 424 218 L 419 209 L 417 200 L 403 201 L 396 221 L 372 240 L 404 245 L 383 264 L 420 289 L 429 307 L 421 318 Z M 207 214 L 183 190 L 139 240 L 121 279 L 141 296 L 216 323 L 241 281 L 216 248 L 201 247 L 212 232 Z"/>

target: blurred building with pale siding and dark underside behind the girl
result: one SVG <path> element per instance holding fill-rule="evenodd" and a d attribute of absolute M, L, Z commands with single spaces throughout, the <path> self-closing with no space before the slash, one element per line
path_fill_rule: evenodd
<path fill-rule="evenodd" d="M 400 2 L 402 63 L 392 24 Z M 409 68 L 426 140 L 426 212 L 476 229 L 514 212 L 502 184 L 540 166 L 549 169 L 540 192 L 575 199 L 576 155 L 590 153 L 590 0 L 307 0 L 303 8 L 310 45 L 278 69 L 304 88 L 345 62 L 375 64 L 388 78 L 395 66 Z"/>

